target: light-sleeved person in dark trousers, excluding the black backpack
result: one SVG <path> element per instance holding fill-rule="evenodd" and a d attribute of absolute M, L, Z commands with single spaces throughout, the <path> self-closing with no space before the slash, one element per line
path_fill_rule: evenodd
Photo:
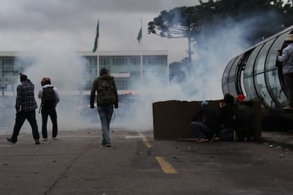
<path fill-rule="evenodd" d="M 52 139 L 53 140 L 58 140 L 59 138 L 57 138 L 58 126 L 57 126 L 56 106 L 57 106 L 57 103 L 60 101 L 59 93 L 58 93 L 57 88 L 54 87 L 53 85 L 51 85 L 51 79 L 48 78 L 48 77 L 42 78 L 41 85 L 42 85 L 42 88 L 40 88 L 40 90 L 38 91 L 38 98 L 39 99 L 42 99 L 43 90 L 45 88 L 53 88 L 54 95 L 55 95 L 55 98 L 56 98 L 56 102 L 52 106 L 47 107 L 47 106 L 41 105 L 41 113 L 42 113 L 42 138 L 43 138 L 43 141 L 48 141 L 48 136 L 47 136 L 47 121 L 48 121 L 48 117 L 50 116 L 50 119 L 52 121 Z"/>

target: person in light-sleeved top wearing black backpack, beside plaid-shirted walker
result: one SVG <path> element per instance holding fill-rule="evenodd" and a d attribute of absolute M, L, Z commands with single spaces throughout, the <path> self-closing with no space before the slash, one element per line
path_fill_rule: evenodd
<path fill-rule="evenodd" d="M 47 136 L 47 121 L 48 116 L 52 121 L 52 139 L 58 140 L 58 128 L 57 128 L 57 112 L 56 106 L 59 102 L 59 93 L 56 87 L 51 85 L 51 79 L 48 77 L 42 78 L 42 88 L 38 92 L 38 98 L 42 100 L 41 113 L 42 113 L 42 138 L 43 141 L 48 141 Z"/>

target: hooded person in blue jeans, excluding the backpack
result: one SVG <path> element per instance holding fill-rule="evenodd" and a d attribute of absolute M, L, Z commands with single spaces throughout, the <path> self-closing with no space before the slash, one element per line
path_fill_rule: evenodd
<path fill-rule="evenodd" d="M 102 80 L 108 81 L 110 85 L 113 87 L 113 91 L 115 95 L 115 102 L 113 104 L 111 103 L 109 105 L 104 105 L 103 102 L 100 102 L 98 100 L 100 82 L 102 82 Z M 116 88 L 114 77 L 108 75 L 107 69 L 100 69 L 100 76 L 93 81 L 93 85 L 91 88 L 91 100 L 90 100 L 91 109 L 95 107 L 94 102 L 96 98 L 96 93 L 98 94 L 97 95 L 98 114 L 100 116 L 100 123 L 101 123 L 102 131 L 103 131 L 103 140 L 102 140 L 101 146 L 110 147 L 111 146 L 110 122 L 114 112 L 113 105 L 115 108 L 118 108 L 118 94 L 117 94 L 117 88 Z"/>

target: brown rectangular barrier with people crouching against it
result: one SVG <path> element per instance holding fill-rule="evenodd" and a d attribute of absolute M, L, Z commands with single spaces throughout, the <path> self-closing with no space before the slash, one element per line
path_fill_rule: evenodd
<path fill-rule="evenodd" d="M 190 127 L 193 115 L 200 108 L 201 101 L 169 100 L 153 103 L 154 139 L 195 138 Z M 209 106 L 219 113 L 220 100 L 209 100 Z M 255 110 L 255 138 L 261 136 L 261 105 L 253 101 Z"/>

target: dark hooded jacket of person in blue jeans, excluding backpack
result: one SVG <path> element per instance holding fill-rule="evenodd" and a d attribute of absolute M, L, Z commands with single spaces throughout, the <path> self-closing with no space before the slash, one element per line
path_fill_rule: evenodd
<path fill-rule="evenodd" d="M 103 75 L 103 76 L 99 76 L 98 78 L 95 79 L 95 81 L 93 81 L 93 86 L 91 88 L 91 108 L 94 107 L 94 102 L 95 102 L 95 98 L 96 98 L 96 92 L 98 93 L 99 90 L 99 86 L 100 86 L 100 79 L 105 79 L 110 81 L 111 85 L 113 85 L 113 89 L 114 89 L 114 93 L 115 93 L 115 108 L 118 107 L 118 93 L 117 93 L 117 88 L 116 88 L 116 84 L 115 84 L 115 80 L 113 76 L 110 75 Z M 97 97 L 97 105 L 98 107 L 101 106 L 98 102 L 98 97 Z"/>

